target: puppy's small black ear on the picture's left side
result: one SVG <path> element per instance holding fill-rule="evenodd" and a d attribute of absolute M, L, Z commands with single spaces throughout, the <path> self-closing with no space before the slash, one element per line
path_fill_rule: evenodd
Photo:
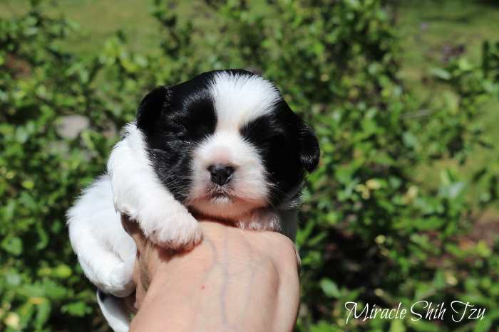
<path fill-rule="evenodd" d="M 137 110 L 137 127 L 147 129 L 160 119 L 161 114 L 170 107 L 171 90 L 169 87 L 156 87 L 140 102 Z"/>

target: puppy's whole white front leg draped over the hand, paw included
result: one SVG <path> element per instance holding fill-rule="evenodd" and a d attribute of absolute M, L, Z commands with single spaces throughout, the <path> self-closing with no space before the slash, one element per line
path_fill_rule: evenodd
<path fill-rule="evenodd" d="M 108 161 L 116 210 L 137 220 L 158 245 L 186 249 L 202 239 L 197 220 L 160 183 L 148 161 L 143 134 L 131 123 Z"/>

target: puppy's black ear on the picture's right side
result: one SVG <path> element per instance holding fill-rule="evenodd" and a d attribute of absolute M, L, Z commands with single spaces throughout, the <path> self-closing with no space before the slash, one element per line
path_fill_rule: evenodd
<path fill-rule="evenodd" d="M 321 151 L 314 129 L 298 119 L 298 156 L 302 166 L 311 173 L 317 168 Z"/>

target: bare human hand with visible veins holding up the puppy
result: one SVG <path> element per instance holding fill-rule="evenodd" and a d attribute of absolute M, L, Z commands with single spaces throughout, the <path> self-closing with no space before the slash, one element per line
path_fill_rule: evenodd
<path fill-rule="evenodd" d="M 299 306 L 297 255 L 289 238 L 202 221 L 190 252 L 153 245 L 122 218 L 138 255 L 133 331 L 292 331 Z"/>

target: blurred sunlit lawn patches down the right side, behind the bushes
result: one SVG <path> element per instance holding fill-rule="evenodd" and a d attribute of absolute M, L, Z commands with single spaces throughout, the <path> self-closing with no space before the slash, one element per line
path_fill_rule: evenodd
<path fill-rule="evenodd" d="M 403 1 L 397 13 L 399 33 L 402 41 L 401 78 L 408 87 L 422 98 L 429 95 L 438 100 L 444 92 L 428 86 L 424 77 L 430 75 L 431 68 L 445 64 L 446 57 L 455 53 L 467 58 L 470 63 L 480 63 L 484 41 L 499 41 L 499 3 L 494 1 Z M 480 124 L 485 129 L 485 138 L 491 144 L 499 141 L 499 101 L 490 100 L 483 106 Z M 424 183 L 438 183 L 443 168 L 451 168 L 460 173 L 473 174 L 480 166 L 497 161 L 499 146 L 493 151 L 477 149 L 473 158 L 460 166 L 448 160 L 421 171 Z M 468 179 L 470 180 L 470 179 Z M 482 191 L 475 183 L 469 186 L 470 198 Z M 499 206 L 496 206 L 499 208 Z"/>

